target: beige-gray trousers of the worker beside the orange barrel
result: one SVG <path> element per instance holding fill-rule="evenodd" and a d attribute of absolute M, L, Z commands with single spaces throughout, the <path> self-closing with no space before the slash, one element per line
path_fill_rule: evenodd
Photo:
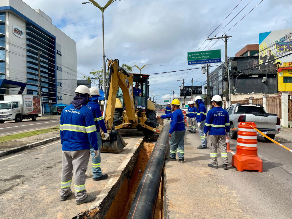
<path fill-rule="evenodd" d="M 208 146 L 210 148 L 211 163 L 213 166 L 218 166 L 217 143 L 221 150 L 222 164 L 228 165 L 226 135 L 209 135 Z"/>

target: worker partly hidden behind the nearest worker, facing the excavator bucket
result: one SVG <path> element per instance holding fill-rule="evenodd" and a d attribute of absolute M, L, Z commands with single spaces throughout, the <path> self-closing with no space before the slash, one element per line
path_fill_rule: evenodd
<path fill-rule="evenodd" d="M 108 137 L 107 134 L 107 128 L 105 127 L 105 121 L 103 120 L 101 111 L 100 111 L 100 106 L 98 104 L 98 98 L 100 97 L 99 95 L 99 90 L 98 88 L 91 87 L 89 88 L 90 94 L 92 97 L 89 98 L 89 102 L 87 103 L 87 107 L 91 109 L 91 112 L 93 113 L 94 117 L 94 123 L 96 126 L 96 135 L 97 135 L 97 144 L 100 146 L 98 147 L 99 150 L 99 155 L 98 157 L 95 157 L 94 153 L 94 148 L 90 147 L 90 153 L 92 157 L 92 173 L 93 173 L 93 181 L 99 181 L 99 180 L 105 180 L 107 179 L 108 175 L 107 174 L 102 174 L 101 168 L 100 168 L 100 163 L 101 163 L 101 158 L 100 158 L 100 148 L 101 148 L 101 134 L 100 134 L 100 128 L 102 129 L 104 133 L 104 138 L 103 140 L 106 140 Z"/>

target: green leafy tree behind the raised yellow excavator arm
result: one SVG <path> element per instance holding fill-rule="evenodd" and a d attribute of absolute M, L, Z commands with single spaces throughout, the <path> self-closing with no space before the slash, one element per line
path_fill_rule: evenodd
<path fill-rule="evenodd" d="M 122 67 L 127 71 L 127 72 L 132 72 L 133 67 L 130 65 L 123 64 Z M 106 71 L 106 78 L 109 74 L 109 71 L 107 69 Z M 90 83 L 96 85 L 99 89 L 103 88 L 103 68 L 101 67 L 100 70 L 95 70 L 92 69 L 91 72 L 89 72 L 90 76 L 84 75 L 82 78 L 88 80 Z"/>

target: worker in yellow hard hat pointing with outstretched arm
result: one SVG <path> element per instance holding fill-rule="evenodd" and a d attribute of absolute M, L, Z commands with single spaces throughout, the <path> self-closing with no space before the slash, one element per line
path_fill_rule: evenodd
<path fill-rule="evenodd" d="M 172 102 L 173 113 L 168 113 L 165 115 L 158 116 L 157 118 L 166 119 L 171 118 L 170 120 L 170 129 L 169 129 L 169 157 L 166 160 L 176 161 L 175 152 L 178 151 L 178 161 L 183 164 L 184 163 L 184 155 L 185 155 L 185 125 L 184 120 L 185 116 L 180 109 L 180 101 L 178 99 L 174 99 Z"/>

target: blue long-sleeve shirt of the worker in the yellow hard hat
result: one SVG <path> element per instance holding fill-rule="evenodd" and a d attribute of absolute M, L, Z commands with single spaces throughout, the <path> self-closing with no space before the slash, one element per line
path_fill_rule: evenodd
<path fill-rule="evenodd" d="M 164 114 L 161 116 L 162 119 L 170 119 L 170 129 L 169 133 L 173 133 L 174 131 L 183 131 L 185 130 L 185 116 L 181 109 L 175 110 L 173 113 Z"/>

